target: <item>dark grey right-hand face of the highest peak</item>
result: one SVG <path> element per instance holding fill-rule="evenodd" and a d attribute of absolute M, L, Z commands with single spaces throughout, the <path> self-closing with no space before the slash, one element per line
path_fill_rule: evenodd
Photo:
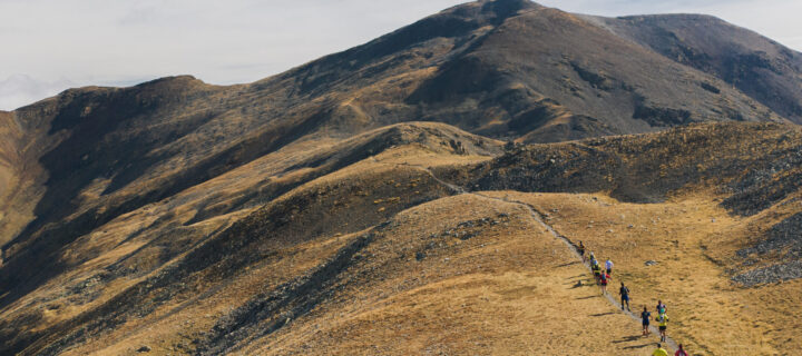
<path fill-rule="evenodd" d="M 714 93 L 702 82 L 724 89 Z M 468 129 L 524 141 L 644 132 L 703 120 L 776 119 L 712 76 L 547 8 L 505 21 L 475 50 L 440 66 L 411 99 L 442 108 L 434 117 L 483 118 L 479 128 Z M 569 135 L 550 136 L 555 126 L 568 126 Z"/>

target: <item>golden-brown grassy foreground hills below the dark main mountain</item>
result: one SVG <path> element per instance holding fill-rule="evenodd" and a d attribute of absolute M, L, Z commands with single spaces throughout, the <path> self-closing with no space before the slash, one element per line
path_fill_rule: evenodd
<path fill-rule="evenodd" d="M 261 176 L 253 172 L 265 169 L 256 167 L 270 158 L 104 225 L 65 247 L 65 273 L 3 309 L 3 338 L 23 354 L 135 354 L 141 345 L 159 354 L 645 352 L 651 339 L 636 336 L 637 322 L 598 297 L 577 257 L 544 221 L 574 243 L 585 241 L 600 258 L 612 257 L 614 278 L 630 286 L 636 307 L 666 300 L 674 320 L 669 334 L 693 350 L 773 354 L 800 342 L 789 318 L 800 301 L 793 297 L 799 279 L 744 284 L 739 276 L 793 263 L 794 255 L 750 255 L 749 261 L 739 251 L 771 240 L 754 233 L 802 209 L 802 192 L 793 185 L 799 180 L 781 179 L 796 175 L 798 165 L 759 180 L 749 179 L 741 165 L 760 168 L 799 158 L 801 134 L 779 125 L 706 125 L 519 147 L 492 159 L 487 155 L 499 144 L 424 123 L 366 134 L 331 149 L 295 147 L 297 154 L 275 157 L 326 157 L 343 147 L 389 142 L 351 164 L 334 160 L 320 175 L 304 176 L 317 167 L 304 165 L 309 168 L 270 179 L 265 188 L 319 177 L 264 207 L 196 219 L 200 211 L 217 211 L 198 191 L 234 194 L 233 184 L 248 186 L 246 177 Z M 711 149 L 735 138 L 743 151 Z M 643 195 L 622 195 L 615 187 L 630 172 L 648 171 L 642 165 L 654 159 L 649 149 L 673 158 L 664 171 L 633 187 L 652 190 L 651 202 L 610 198 L 643 201 Z M 598 181 L 594 165 L 605 162 L 580 155 L 587 151 L 627 166 L 602 179 L 606 184 L 584 185 L 579 177 Z M 671 174 L 704 172 L 701 167 L 717 161 L 725 168 L 707 168 L 715 176 L 678 181 Z M 539 162 L 554 168 L 532 168 Z M 536 180 L 518 174 L 537 171 L 544 176 Z M 510 187 L 486 186 L 486 172 Z M 542 192 L 453 196 L 459 190 L 446 178 L 475 189 Z M 563 189 L 549 181 L 568 181 L 593 195 L 544 194 Z M 744 209 L 734 204 L 745 199 L 743 192 L 723 182 L 786 194 Z M 657 265 L 644 266 L 649 259 Z M 574 287 L 578 279 L 587 286 Z M 567 316 L 577 324 L 561 319 Z M 587 325 L 596 326 L 583 328 Z"/>

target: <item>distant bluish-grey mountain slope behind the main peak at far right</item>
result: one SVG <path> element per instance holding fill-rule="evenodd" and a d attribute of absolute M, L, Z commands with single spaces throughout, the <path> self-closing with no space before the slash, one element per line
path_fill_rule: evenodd
<path fill-rule="evenodd" d="M 781 116 L 802 123 L 802 53 L 798 51 L 708 16 L 591 20 L 678 63 L 712 73 Z"/>

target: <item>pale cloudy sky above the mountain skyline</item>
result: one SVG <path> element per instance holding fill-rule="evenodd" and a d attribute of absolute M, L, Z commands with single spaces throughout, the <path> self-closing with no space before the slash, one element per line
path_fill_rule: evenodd
<path fill-rule="evenodd" d="M 0 110 L 174 75 L 251 82 L 460 0 L 0 0 Z M 570 12 L 720 17 L 802 50 L 801 0 L 542 0 Z"/>

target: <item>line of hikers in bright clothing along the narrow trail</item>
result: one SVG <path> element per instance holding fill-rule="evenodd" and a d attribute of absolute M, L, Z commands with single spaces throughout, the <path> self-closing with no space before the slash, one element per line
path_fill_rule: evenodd
<path fill-rule="evenodd" d="M 585 258 L 585 245 L 583 241 L 579 241 L 579 245 L 577 246 L 577 251 L 581 256 L 583 264 L 587 261 Z M 604 264 L 604 268 L 602 268 L 602 265 L 596 259 L 596 256 L 594 256 L 594 253 L 590 251 L 588 254 L 588 258 L 590 259 L 590 270 L 594 274 L 594 279 L 596 280 L 596 284 L 602 288 L 602 295 L 607 294 L 607 284 L 609 284 L 610 279 L 613 278 L 613 261 L 607 258 L 607 260 Z M 626 306 L 626 309 L 632 312 L 629 308 L 629 288 L 627 288 L 624 285 L 624 281 L 620 283 L 622 286 L 618 289 L 618 295 L 620 295 L 620 306 L 622 310 L 624 310 L 624 307 Z M 657 329 L 659 330 L 661 335 L 661 343 L 666 342 L 666 328 L 668 327 L 668 314 L 666 314 L 666 305 L 663 303 L 663 300 L 657 300 L 657 307 L 655 308 L 657 312 L 657 317 L 655 318 L 655 322 L 657 322 Z M 652 319 L 652 313 L 646 308 L 644 305 L 644 310 L 640 313 L 640 320 L 643 324 L 643 335 L 649 335 L 652 332 L 649 332 L 649 324 Z M 657 344 L 657 349 L 654 350 L 652 354 L 653 356 L 668 356 L 668 352 L 666 352 L 662 344 Z M 683 348 L 683 345 L 678 345 L 677 352 L 674 354 L 675 356 L 688 356 L 688 354 Z"/>

